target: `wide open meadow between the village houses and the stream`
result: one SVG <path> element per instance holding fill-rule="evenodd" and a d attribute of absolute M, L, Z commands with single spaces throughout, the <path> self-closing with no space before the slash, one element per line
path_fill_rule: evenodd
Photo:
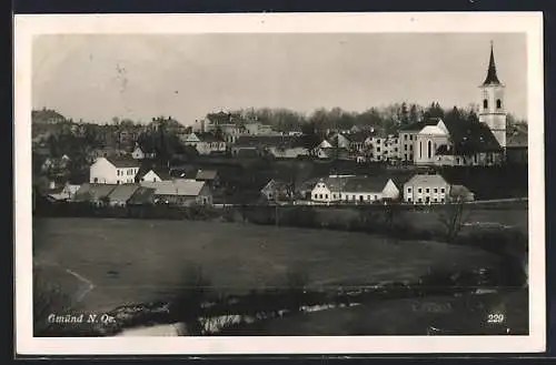
<path fill-rule="evenodd" d="M 322 288 L 409 281 L 431 267 L 476 268 L 496 260 L 437 242 L 235 223 L 36 219 L 33 226 L 41 275 L 97 311 L 168 298 L 191 264 L 216 291 L 244 293 L 286 285 L 288 270 L 307 272 L 309 286 Z"/>

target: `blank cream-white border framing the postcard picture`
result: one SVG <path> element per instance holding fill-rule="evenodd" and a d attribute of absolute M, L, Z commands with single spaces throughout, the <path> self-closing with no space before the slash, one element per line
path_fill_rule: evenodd
<path fill-rule="evenodd" d="M 529 336 L 33 338 L 31 44 L 58 33 L 525 32 L 529 121 Z M 544 352 L 544 73 L 540 12 L 75 14 L 14 17 L 16 349 L 18 354 L 369 354 Z M 534 217 L 534 219 L 533 219 Z"/>

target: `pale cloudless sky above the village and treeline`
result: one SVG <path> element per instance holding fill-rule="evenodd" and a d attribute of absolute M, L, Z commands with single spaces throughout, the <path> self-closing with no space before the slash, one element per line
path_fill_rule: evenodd
<path fill-rule="evenodd" d="M 186 125 L 241 108 L 467 107 L 479 100 L 490 41 L 507 110 L 526 118 L 519 33 L 40 36 L 32 105 L 88 122 L 171 115 Z"/>

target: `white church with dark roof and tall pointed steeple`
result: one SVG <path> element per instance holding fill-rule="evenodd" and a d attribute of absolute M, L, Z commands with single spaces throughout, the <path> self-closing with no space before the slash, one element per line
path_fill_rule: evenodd
<path fill-rule="evenodd" d="M 423 123 L 414 140 L 414 162 L 420 165 L 498 165 L 506 149 L 504 84 L 496 73 L 494 49 L 479 85 L 477 120 L 434 119 Z"/>

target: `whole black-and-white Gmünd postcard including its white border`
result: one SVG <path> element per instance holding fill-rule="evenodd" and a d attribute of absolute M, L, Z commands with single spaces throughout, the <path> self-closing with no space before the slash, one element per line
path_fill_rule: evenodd
<path fill-rule="evenodd" d="M 542 16 L 141 17 L 16 23 L 26 341 L 544 349 Z"/>

